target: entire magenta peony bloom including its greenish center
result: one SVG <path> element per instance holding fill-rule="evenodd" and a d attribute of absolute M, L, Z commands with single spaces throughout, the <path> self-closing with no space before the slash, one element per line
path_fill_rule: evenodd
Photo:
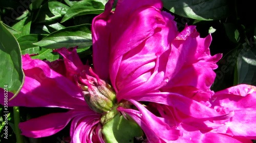
<path fill-rule="evenodd" d="M 23 56 L 24 87 L 10 106 L 68 109 L 20 123 L 24 135 L 49 136 L 71 122 L 72 142 L 104 142 L 102 126 L 122 115 L 140 126 L 146 142 L 254 138 L 236 128 L 239 121 L 252 124 L 252 104 L 239 103 L 248 85 L 209 90 L 221 58 L 209 53 L 210 35 L 200 38 L 195 26 L 179 33 L 161 1 L 119 1 L 114 12 L 113 3 L 92 23 L 93 68 L 82 64 L 76 48 L 56 50 L 63 61 L 54 63 Z M 247 89 L 251 102 L 253 88 Z M 252 114 L 236 116 L 240 110 Z"/>

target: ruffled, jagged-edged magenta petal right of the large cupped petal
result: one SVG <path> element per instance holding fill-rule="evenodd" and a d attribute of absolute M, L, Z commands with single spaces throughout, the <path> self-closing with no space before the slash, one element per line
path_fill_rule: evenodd
<path fill-rule="evenodd" d="M 200 38 L 195 26 L 186 26 L 172 42 L 172 46 L 180 51 L 179 64 L 182 68 L 170 79 L 164 91 L 175 86 L 193 86 L 208 92 L 215 79 L 214 69 L 221 59 L 221 54 L 211 56 L 209 45 L 211 36 Z M 187 74 L 189 73 L 189 74 Z"/>

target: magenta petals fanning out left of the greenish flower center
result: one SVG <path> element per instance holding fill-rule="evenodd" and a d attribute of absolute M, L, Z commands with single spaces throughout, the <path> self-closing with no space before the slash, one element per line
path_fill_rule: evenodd
<path fill-rule="evenodd" d="M 34 138 L 49 136 L 63 129 L 71 121 L 72 142 L 98 142 L 97 140 L 103 142 L 100 137 L 101 125 L 98 124 L 100 114 L 89 108 L 84 102 L 82 90 L 67 78 L 84 66 L 76 52 L 62 51 L 65 51 L 72 62 L 75 62 L 74 64 L 66 59 L 67 70 L 61 61 L 50 63 L 32 60 L 29 55 L 22 57 L 25 83 L 18 96 L 9 101 L 9 106 L 69 109 L 67 112 L 51 113 L 20 123 L 19 127 L 25 136 Z M 1 104 L 3 104 L 2 99 Z"/>

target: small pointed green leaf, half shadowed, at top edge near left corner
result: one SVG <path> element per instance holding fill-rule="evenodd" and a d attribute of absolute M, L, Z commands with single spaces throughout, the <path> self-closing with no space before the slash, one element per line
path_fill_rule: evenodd
<path fill-rule="evenodd" d="M 49 1 L 38 11 L 36 23 L 51 22 L 66 14 L 70 7 L 57 1 Z"/>

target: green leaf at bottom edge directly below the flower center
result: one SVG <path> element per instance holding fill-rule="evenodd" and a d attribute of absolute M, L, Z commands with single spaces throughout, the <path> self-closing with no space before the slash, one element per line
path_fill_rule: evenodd
<path fill-rule="evenodd" d="M 141 128 L 133 121 L 116 115 L 112 120 L 102 127 L 102 134 L 106 143 L 131 143 L 134 137 L 143 135 Z"/>

